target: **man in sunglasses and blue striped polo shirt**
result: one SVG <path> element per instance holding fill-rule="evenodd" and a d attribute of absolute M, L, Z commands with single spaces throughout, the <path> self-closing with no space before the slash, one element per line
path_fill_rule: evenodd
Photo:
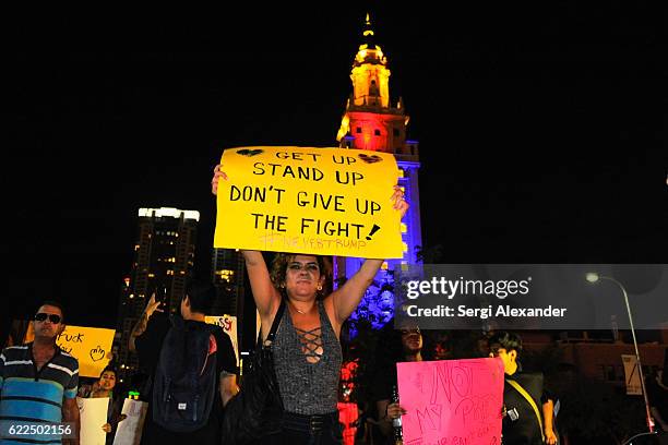
<path fill-rule="evenodd" d="M 73 436 L 63 443 L 79 444 L 79 361 L 56 345 L 65 327 L 63 322 L 62 306 L 46 301 L 33 317 L 35 340 L 2 350 L 0 445 L 60 443 L 56 432 L 62 422 L 68 422 L 69 429 L 62 425 L 61 430 L 70 430 L 68 437 Z M 35 425 L 40 428 L 37 430 Z M 45 425 L 56 429 L 45 429 Z"/>

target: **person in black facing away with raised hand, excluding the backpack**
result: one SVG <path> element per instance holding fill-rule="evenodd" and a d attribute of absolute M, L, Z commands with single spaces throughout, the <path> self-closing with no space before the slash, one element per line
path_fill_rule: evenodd
<path fill-rule="evenodd" d="M 152 385 L 147 395 L 144 396 L 148 402 L 148 411 L 144 423 L 142 444 L 183 444 L 195 443 L 198 445 L 219 443 L 220 422 L 223 420 L 224 406 L 239 392 L 237 386 L 237 363 L 235 351 L 229 336 L 219 326 L 206 326 L 205 314 L 215 301 L 216 291 L 213 285 L 202 281 L 192 281 L 186 290 L 181 300 L 180 313 L 189 328 L 213 329 L 213 340 L 208 354 L 215 353 L 216 378 L 214 405 L 205 426 L 189 433 L 179 433 L 167 430 L 153 421 L 154 407 L 151 402 L 151 394 L 156 390 Z M 155 301 L 152 296 L 142 317 L 132 330 L 130 347 L 135 349 L 140 363 L 151 372 L 151 380 L 155 383 L 156 371 L 159 362 L 159 353 L 164 346 L 165 337 L 172 327 L 170 320 L 159 309 L 160 302 Z M 159 314 L 159 315 L 158 315 Z M 176 316 L 176 315 L 175 315 Z"/>

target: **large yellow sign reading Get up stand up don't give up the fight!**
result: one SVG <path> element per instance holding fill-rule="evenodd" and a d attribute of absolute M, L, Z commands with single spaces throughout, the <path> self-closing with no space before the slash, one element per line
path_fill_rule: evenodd
<path fill-rule="evenodd" d="M 347 148 L 239 147 L 220 159 L 215 248 L 402 257 L 394 156 Z"/>

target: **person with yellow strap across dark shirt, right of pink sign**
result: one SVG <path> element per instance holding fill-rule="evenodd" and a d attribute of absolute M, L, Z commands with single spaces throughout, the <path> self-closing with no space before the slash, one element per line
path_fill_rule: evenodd
<path fill-rule="evenodd" d="M 552 398 L 544 389 L 541 373 L 525 373 L 517 361 L 522 352 L 522 338 L 516 334 L 498 332 L 489 338 L 490 357 L 503 361 L 504 444 L 554 445 Z"/>

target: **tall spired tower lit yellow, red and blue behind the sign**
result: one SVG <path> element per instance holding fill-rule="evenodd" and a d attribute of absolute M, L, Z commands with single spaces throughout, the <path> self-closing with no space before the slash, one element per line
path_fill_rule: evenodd
<path fill-rule="evenodd" d="M 391 153 L 397 160 L 410 208 L 402 219 L 404 256 L 389 260 L 384 268 L 393 270 L 402 264 L 416 263 L 416 248 L 422 244 L 420 231 L 420 200 L 418 189 L 418 142 L 406 139 L 408 116 L 402 98 L 396 106 L 390 101 L 390 69 L 387 58 L 375 45 L 369 14 L 365 24 L 363 43 L 353 62 L 350 80 L 353 94 L 348 98 L 336 140 L 341 147 Z M 360 258 L 339 257 L 336 277 L 353 275 L 361 265 Z"/>

